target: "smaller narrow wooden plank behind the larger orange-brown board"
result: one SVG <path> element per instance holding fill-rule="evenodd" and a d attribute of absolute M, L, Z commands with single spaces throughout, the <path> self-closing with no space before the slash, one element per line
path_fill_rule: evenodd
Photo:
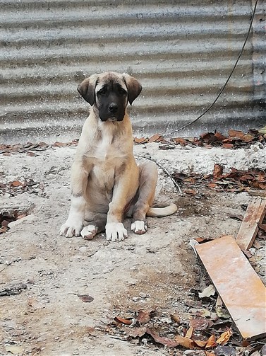
<path fill-rule="evenodd" d="M 241 250 L 248 250 L 252 246 L 258 234 L 258 223 L 264 219 L 265 212 L 266 199 L 256 197 L 248 204 L 248 209 L 236 236 L 236 243 Z"/>

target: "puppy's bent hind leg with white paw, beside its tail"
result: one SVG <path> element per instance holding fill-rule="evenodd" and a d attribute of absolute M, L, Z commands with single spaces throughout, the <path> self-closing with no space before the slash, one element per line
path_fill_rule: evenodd
<path fill-rule="evenodd" d="M 133 207 L 133 223 L 131 230 L 135 234 L 145 234 L 147 231 L 146 214 L 155 198 L 155 188 L 158 178 L 156 163 L 147 161 L 140 164 L 140 185 L 138 200 Z"/>

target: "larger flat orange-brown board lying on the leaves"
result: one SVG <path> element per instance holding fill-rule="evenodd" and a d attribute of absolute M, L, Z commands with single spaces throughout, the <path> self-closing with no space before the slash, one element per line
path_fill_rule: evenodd
<path fill-rule="evenodd" d="M 242 337 L 266 335 L 266 289 L 234 237 L 195 248 Z"/>

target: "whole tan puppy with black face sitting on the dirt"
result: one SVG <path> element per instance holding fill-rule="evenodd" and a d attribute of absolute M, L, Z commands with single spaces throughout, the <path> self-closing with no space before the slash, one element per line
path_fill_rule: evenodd
<path fill-rule="evenodd" d="M 71 208 L 60 235 L 92 239 L 106 231 L 107 240 L 127 237 L 123 217 L 133 217 L 131 229 L 145 234 L 146 215 L 162 217 L 176 205 L 152 208 L 157 167 L 150 161 L 137 166 L 133 134 L 126 113 L 142 86 L 128 74 L 106 72 L 85 79 L 78 92 L 92 105 L 85 121 L 71 170 Z"/>

